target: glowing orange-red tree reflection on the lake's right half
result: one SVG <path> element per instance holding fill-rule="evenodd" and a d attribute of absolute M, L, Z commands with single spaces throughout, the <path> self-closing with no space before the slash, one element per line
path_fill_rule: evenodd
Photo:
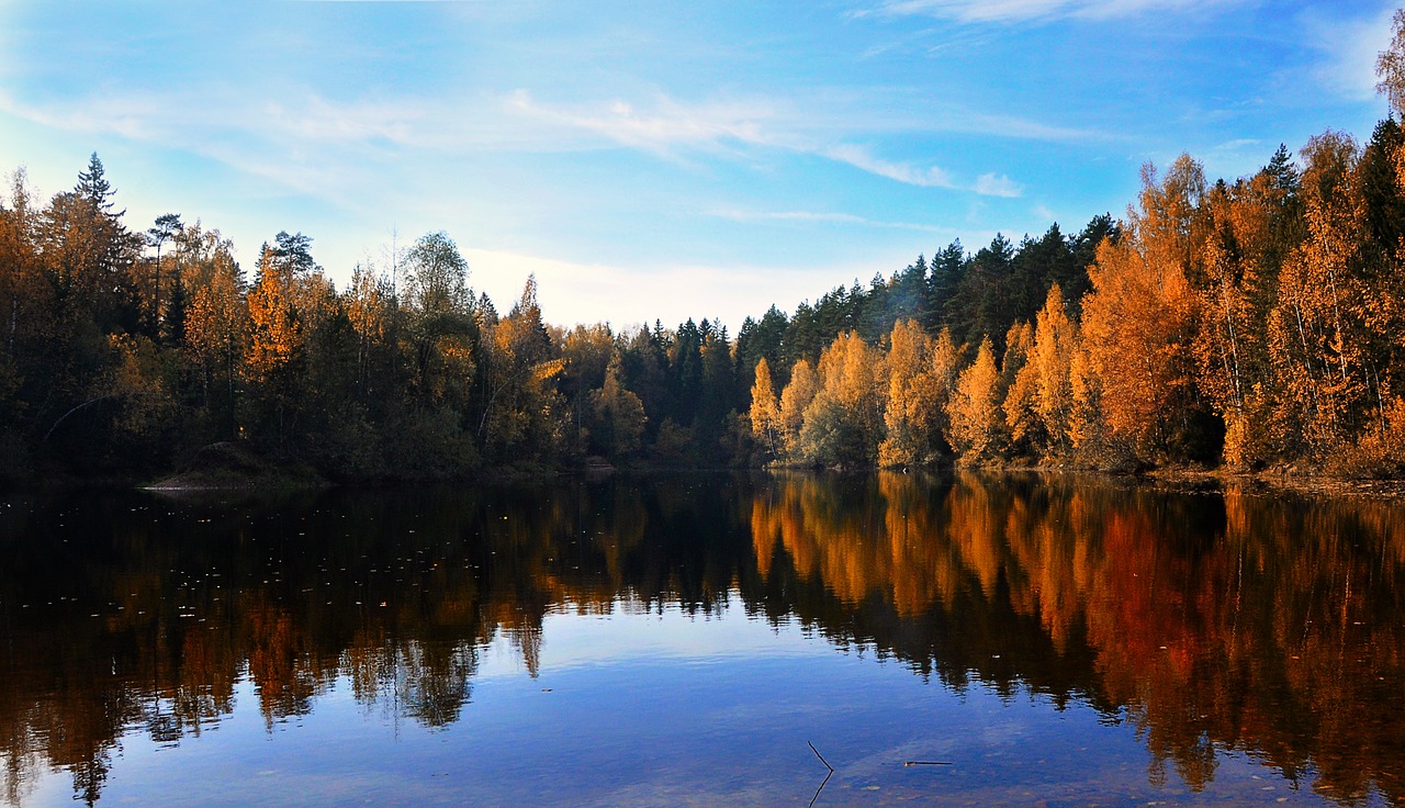
<path fill-rule="evenodd" d="M 1154 780 L 1169 763 L 1200 788 L 1242 749 L 1343 802 L 1405 795 L 1398 506 L 962 474 L 881 475 L 836 513 L 856 485 L 785 482 L 752 514 L 763 575 L 825 587 L 797 607 L 822 630 L 954 687 L 1078 693 L 1137 728 Z"/>

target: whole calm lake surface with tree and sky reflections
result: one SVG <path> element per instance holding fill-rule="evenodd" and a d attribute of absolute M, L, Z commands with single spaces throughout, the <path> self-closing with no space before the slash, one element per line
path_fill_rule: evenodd
<path fill-rule="evenodd" d="M 887 474 L 0 499 L 0 801 L 74 800 L 1405 805 L 1405 509 Z"/>

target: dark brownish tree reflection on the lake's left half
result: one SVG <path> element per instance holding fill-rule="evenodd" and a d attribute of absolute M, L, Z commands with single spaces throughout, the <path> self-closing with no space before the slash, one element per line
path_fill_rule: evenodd
<path fill-rule="evenodd" d="M 10 504 L 0 788 L 18 804 L 41 766 L 69 770 L 96 800 L 124 732 L 198 735 L 233 710 L 244 676 L 270 726 L 339 679 L 368 708 L 458 721 L 495 638 L 537 673 L 549 611 L 719 610 L 736 579 L 719 541 L 736 531 L 702 514 L 735 514 L 745 497 L 665 482 Z"/>

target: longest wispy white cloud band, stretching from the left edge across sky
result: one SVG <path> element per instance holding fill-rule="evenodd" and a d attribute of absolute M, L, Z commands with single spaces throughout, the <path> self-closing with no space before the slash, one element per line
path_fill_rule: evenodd
<path fill-rule="evenodd" d="M 181 149 L 298 193 L 343 202 L 357 198 L 351 185 L 370 163 L 406 150 L 471 155 L 592 148 L 589 141 L 580 142 L 582 132 L 597 142 L 670 159 L 687 152 L 736 153 L 763 148 L 821 156 L 923 188 L 993 197 L 1021 194 L 1017 183 L 995 173 L 961 181 L 941 166 L 884 159 L 854 143 L 826 145 L 830 128 L 823 119 L 806 119 L 784 104 L 766 100 L 686 104 L 659 94 L 643 105 L 621 98 L 554 105 L 537 101 L 525 90 L 496 101 L 485 97 L 438 104 L 413 97 L 340 103 L 311 91 L 284 93 L 282 98 L 268 101 L 218 89 L 198 93 L 185 89 L 32 104 L 0 89 L 0 112 L 60 131 L 117 135 Z M 507 115 L 492 115 L 495 105 Z M 483 118 L 492 122 L 478 122 Z M 1038 132 L 1033 125 L 1007 119 L 992 118 L 989 124 L 1005 131 Z M 348 164 L 361 169 L 347 170 Z"/>

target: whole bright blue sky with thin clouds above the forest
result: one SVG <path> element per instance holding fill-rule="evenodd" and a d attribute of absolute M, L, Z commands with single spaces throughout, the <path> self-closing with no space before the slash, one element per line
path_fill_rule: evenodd
<path fill-rule="evenodd" d="M 98 152 L 133 228 L 313 237 L 339 282 L 445 230 L 548 320 L 792 311 L 953 239 L 1123 215 L 1367 139 L 1391 3 L 0 0 L 0 170 Z"/>

